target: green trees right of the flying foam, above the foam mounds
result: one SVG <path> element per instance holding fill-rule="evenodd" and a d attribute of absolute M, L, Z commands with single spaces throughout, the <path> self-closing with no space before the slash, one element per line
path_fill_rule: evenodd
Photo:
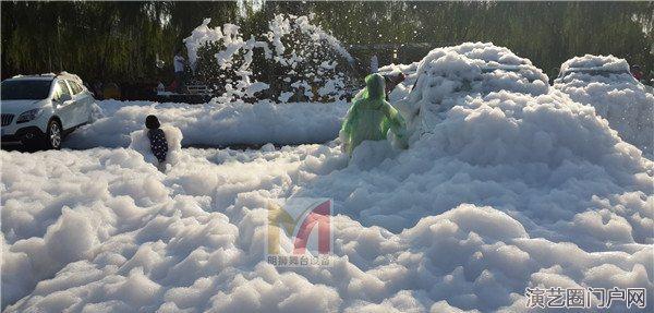
<path fill-rule="evenodd" d="M 403 63 L 435 47 L 491 41 L 531 59 L 550 77 L 562 62 L 586 53 L 654 67 L 654 2 L 353 1 L 312 3 L 307 10 L 346 44 L 427 44 L 400 47 L 395 61 Z M 352 50 L 362 60 L 372 52 Z M 385 52 L 380 63 L 392 62 Z"/>

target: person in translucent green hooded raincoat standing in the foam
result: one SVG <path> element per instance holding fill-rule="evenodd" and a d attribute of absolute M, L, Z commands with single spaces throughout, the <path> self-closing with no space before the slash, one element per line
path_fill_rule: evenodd
<path fill-rule="evenodd" d="M 392 132 L 402 147 L 407 146 L 404 119 L 386 101 L 384 76 L 371 74 L 365 77 L 365 89 L 359 93 L 348 111 L 340 137 L 348 155 L 364 141 L 386 140 Z"/>

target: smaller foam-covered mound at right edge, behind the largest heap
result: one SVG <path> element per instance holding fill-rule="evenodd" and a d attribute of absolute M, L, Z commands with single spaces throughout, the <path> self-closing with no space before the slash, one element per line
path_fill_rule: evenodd
<path fill-rule="evenodd" d="M 654 95 L 613 56 L 576 57 L 561 65 L 554 88 L 574 101 L 592 106 L 626 142 L 652 158 L 654 154 Z"/>

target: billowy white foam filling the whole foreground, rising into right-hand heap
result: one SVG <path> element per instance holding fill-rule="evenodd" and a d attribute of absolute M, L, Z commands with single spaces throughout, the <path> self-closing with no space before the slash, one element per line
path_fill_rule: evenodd
<path fill-rule="evenodd" d="M 649 312 L 654 162 L 594 108 L 524 91 L 440 93 L 409 149 L 351 159 L 175 145 L 159 171 L 138 129 L 133 148 L 0 152 L 5 311 L 528 312 L 525 287 L 635 287 Z M 289 196 L 334 200 L 334 266 L 266 263 Z"/>

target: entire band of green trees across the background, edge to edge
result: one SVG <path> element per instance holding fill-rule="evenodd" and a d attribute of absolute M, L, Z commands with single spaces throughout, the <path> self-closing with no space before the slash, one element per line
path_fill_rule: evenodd
<path fill-rule="evenodd" d="M 651 1 L 266 1 L 259 11 L 244 3 L 2 1 L 2 77 L 66 70 L 87 81 L 170 81 L 173 50 L 203 19 L 211 17 L 215 25 L 239 24 L 243 37 L 250 38 L 265 34 L 278 13 L 313 13 L 314 22 L 346 47 L 398 47 L 397 60 L 389 51 L 351 48 L 362 63 L 373 51 L 382 64 L 407 63 L 435 47 L 492 41 L 531 59 L 549 76 L 567 59 L 585 53 L 614 55 L 645 71 L 654 67 Z M 409 43 L 427 45 L 401 46 Z M 158 58 L 165 68 L 156 67 Z M 255 49 L 252 71 L 255 77 L 266 77 L 258 81 L 271 81 L 278 73 L 269 65 Z"/>

